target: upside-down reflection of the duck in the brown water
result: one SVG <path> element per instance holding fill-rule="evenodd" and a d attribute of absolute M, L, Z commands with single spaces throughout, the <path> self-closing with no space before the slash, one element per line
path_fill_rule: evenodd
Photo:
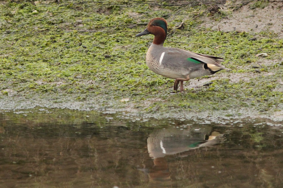
<path fill-rule="evenodd" d="M 202 127 L 189 130 L 164 129 L 151 133 L 147 139 L 147 150 L 153 158 L 154 166 L 147 170 L 149 178 L 155 181 L 171 180 L 165 155 L 211 146 L 226 140 L 224 134 L 210 132 L 210 127 Z"/>

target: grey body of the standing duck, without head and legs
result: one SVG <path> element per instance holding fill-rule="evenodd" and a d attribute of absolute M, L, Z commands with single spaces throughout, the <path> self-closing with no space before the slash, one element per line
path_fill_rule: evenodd
<path fill-rule="evenodd" d="M 155 73 L 167 78 L 190 79 L 214 74 L 206 64 L 220 66 L 222 58 L 196 54 L 179 48 L 166 48 L 163 45 L 152 44 L 146 54 L 147 66 Z M 207 63 L 205 63 L 207 62 Z"/>

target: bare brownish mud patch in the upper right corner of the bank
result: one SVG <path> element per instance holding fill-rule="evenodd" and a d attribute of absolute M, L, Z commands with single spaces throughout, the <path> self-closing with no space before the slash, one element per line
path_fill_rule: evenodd
<path fill-rule="evenodd" d="M 218 22 L 206 19 L 202 26 L 210 27 L 213 30 L 230 32 L 236 30 L 243 30 L 250 33 L 258 33 L 264 30 L 273 30 L 278 34 L 278 37 L 283 37 L 283 1 L 272 1 L 265 8 L 250 9 L 256 1 L 242 6 L 238 10 L 233 11 L 232 14 Z M 241 2 L 238 2 L 241 3 Z M 237 3 L 235 3 L 237 4 Z M 221 6 L 220 6 L 221 7 Z M 226 6 L 222 7 L 224 10 Z"/>

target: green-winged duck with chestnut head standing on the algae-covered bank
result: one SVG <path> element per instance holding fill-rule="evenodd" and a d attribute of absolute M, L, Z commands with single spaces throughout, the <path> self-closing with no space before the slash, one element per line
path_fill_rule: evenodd
<path fill-rule="evenodd" d="M 167 78 L 175 79 L 173 92 L 184 91 L 183 82 L 201 76 L 215 74 L 220 70 L 231 70 L 221 65 L 221 57 L 198 54 L 180 48 L 164 47 L 167 36 L 167 21 L 156 17 L 151 19 L 147 28 L 136 37 L 153 34 L 153 43 L 147 50 L 145 61 L 150 70 Z"/>

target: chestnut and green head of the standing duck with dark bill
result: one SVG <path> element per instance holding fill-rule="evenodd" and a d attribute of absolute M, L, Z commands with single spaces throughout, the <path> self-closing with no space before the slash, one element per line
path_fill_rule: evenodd
<path fill-rule="evenodd" d="M 136 34 L 136 37 L 147 34 L 153 34 L 155 36 L 153 44 L 163 44 L 167 35 L 166 20 L 159 17 L 152 19 L 151 21 L 149 21 L 147 28 L 143 32 Z"/>

